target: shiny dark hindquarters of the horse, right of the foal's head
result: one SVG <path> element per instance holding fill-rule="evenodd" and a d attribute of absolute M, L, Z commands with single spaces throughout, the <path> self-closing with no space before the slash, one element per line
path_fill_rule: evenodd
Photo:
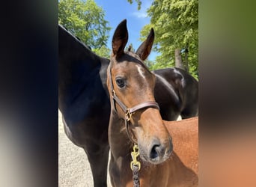
<path fill-rule="evenodd" d="M 195 78 L 176 67 L 154 70 L 153 73 L 157 83 L 156 102 L 164 111 L 161 112 L 164 120 L 176 120 L 179 114 L 183 119 L 198 115 L 198 81 Z M 165 100 L 169 105 L 165 105 Z"/>

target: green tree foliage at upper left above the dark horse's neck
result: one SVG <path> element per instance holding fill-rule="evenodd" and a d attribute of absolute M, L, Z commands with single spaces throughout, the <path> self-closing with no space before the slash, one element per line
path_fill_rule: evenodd
<path fill-rule="evenodd" d="M 58 23 L 79 37 L 93 49 L 106 46 L 109 38 L 109 22 L 105 12 L 94 0 L 60 0 L 58 2 Z"/>

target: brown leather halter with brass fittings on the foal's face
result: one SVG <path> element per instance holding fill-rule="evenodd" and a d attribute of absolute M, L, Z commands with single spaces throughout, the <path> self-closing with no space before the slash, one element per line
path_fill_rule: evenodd
<path fill-rule="evenodd" d="M 157 108 L 159 110 L 159 105 L 157 102 L 154 101 L 146 101 L 146 102 L 141 102 L 138 105 L 133 106 L 132 108 L 127 108 L 126 105 L 124 105 L 124 102 L 121 102 L 121 99 L 118 98 L 118 96 L 115 94 L 115 90 L 114 90 L 114 86 L 113 86 L 113 82 L 112 82 L 112 73 L 111 73 L 111 69 L 112 67 L 109 64 L 109 76 L 110 76 L 110 89 L 111 89 L 111 93 L 112 93 L 112 105 L 115 108 L 115 112 L 118 114 L 118 111 L 115 107 L 115 102 L 118 102 L 118 105 L 122 108 L 122 110 L 124 111 L 125 115 L 124 115 L 124 120 L 125 120 L 125 126 L 127 129 L 127 135 L 130 139 L 130 141 L 132 141 L 133 143 L 135 143 L 135 141 L 131 138 L 130 134 L 129 134 L 129 120 L 132 117 L 132 114 L 135 113 L 135 111 L 141 110 L 143 108 Z"/>

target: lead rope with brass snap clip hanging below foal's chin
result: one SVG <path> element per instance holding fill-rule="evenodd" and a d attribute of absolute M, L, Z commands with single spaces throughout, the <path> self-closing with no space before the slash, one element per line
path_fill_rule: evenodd
<path fill-rule="evenodd" d="M 133 151 L 131 153 L 132 162 L 130 163 L 130 167 L 132 169 L 133 187 L 139 187 L 138 171 L 141 169 L 141 162 L 138 162 L 137 160 L 138 155 L 138 145 L 134 144 Z"/>

